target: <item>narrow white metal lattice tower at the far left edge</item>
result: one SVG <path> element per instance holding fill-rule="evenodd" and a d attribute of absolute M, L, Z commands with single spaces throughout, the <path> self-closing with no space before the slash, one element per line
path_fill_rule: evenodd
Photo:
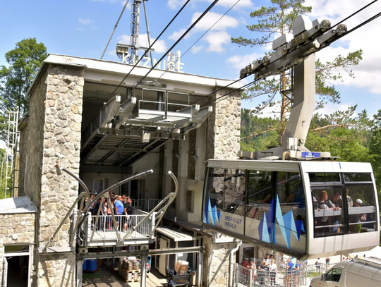
<path fill-rule="evenodd" d="M 14 167 L 16 166 L 16 157 L 18 155 L 18 108 L 16 111 L 8 111 L 8 135 L 6 140 L 6 183 L 5 183 L 5 198 L 7 191 L 11 191 L 13 187 L 14 193 Z M 8 183 L 8 180 L 12 179 L 12 185 Z M 11 196 L 14 196 L 10 193 Z"/>

